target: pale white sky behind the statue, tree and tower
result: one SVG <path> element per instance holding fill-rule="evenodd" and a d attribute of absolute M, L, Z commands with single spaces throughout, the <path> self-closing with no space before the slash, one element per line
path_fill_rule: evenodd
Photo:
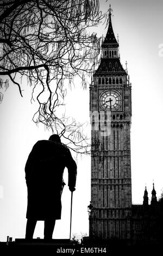
<path fill-rule="evenodd" d="M 151 198 L 154 180 L 157 196 L 162 182 L 162 109 L 163 44 L 161 0 L 100 0 L 103 11 L 113 9 L 112 26 L 119 34 L 121 63 L 132 83 L 133 117 L 131 125 L 131 178 L 133 203 L 142 203 L 147 186 Z M 99 36 L 106 34 L 105 26 L 95 28 Z M 89 84 L 82 90 L 79 83 L 67 97 L 67 112 L 79 121 L 89 120 Z M 0 241 L 7 235 L 23 238 L 26 229 L 27 188 L 24 165 L 28 154 L 39 139 L 48 139 L 43 127 L 36 127 L 32 117 L 36 106 L 30 104 L 30 91 L 23 84 L 23 99 L 10 84 L 0 105 Z M 65 170 L 67 173 L 67 170 Z M 90 202 L 90 156 L 78 159 L 77 189 L 73 193 L 72 234 L 89 233 L 87 205 Z M 67 183 L 67 175 L 65 175 Z M 70 198 L 68 188 L 62 194 L 62 218 L 57 221 L 54 238 L 68 238 L 70 232 Z M 37 223 L 34 238 L 43 238 L 43 222 Z"/>

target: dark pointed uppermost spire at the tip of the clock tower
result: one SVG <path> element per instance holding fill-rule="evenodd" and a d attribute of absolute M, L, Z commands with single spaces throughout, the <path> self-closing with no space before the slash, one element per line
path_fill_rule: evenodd
<path fill-rule="evenodd" d="M 111 23 L 111 5 L 110 5 L 110 8 L 109 8 L 109 27 L 108 27 L 108 31 L 106 33 L 106 36 L 105 36 L 105 39 L 103 41 L 103 44 L 102 44 L 102 48 L 104 47 L 118 47 L 119 44 L 115 38 L 115 35 L 114 35 L 114 31 L 112 29 L 112 23 Z"/>

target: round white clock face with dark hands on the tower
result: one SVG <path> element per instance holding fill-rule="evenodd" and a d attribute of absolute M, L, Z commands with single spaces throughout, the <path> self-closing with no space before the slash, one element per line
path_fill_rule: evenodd
<path fill-rule="evenodd" d="M 114 90 L 106 90 L 99 96 L 99 106 L 104 111 L 122 111 L 121 95 Z"/>

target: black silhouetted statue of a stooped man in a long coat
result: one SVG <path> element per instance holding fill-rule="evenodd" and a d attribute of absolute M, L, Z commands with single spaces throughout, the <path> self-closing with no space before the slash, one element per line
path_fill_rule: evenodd
<path fill-rule="evenodd" d="M 75 190 L 77 165 L 58 135 L 38 141 L 25 167 L 28 189 L 26 239 L 32 239 L 37 221 L 45 221 L 44 239 L 52 239 L 55 220 L 61 218 L 62 175 L 68 169 L 68 186 Z"/>

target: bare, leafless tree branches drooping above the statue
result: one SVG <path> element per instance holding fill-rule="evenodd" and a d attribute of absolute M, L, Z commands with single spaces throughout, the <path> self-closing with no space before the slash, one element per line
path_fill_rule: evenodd
<path fill-rule="evenodd" d="M 23 96 L 20 81 L 26 77 L 33 88 L 31 101 L 38 103 L 33 121 L 87 154 L 82 124 L 60 117 L 58 109 L 64 106 L 65 81 L 77 76 L 85 88 L 86 77 L 95 70 L 101 39 L 89 29 L 107 14 L 99 11 L 98 0 L 3 0 L 0 7 L 0 88 L 14 84 Z"/>

